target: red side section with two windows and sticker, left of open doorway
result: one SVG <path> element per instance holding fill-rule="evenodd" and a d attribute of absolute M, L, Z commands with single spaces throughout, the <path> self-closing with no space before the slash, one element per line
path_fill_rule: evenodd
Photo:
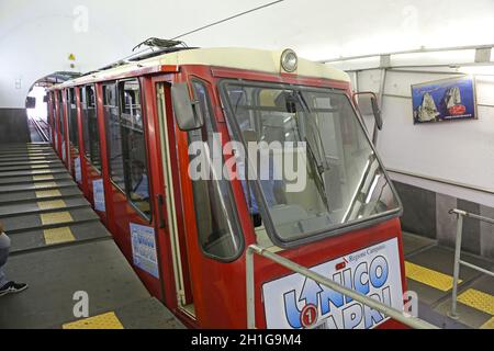
<path fill-rule="evenodd" d="M 165 274 L 158 263 L 158 241 L 164 237 L 160 167 L 150 104 L 144 103 L 144 87 L 136 78 L 103 83 L 102 95 L 111 231 L 151 295 L 165 299 Z"/>

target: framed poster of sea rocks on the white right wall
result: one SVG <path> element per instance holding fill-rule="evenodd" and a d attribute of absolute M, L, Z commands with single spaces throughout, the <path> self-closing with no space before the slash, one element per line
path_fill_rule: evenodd
<path fill-rule="evenodd" d="M 475 81 L 471 76 L 412 86 L 414 124 L 476 120 Z"/>

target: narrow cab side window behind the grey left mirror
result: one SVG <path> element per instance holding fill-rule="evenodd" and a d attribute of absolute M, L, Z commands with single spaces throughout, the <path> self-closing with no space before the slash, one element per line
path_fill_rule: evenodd
<path fill-rule="evenodd" d="M 195 99 L 200 101 L 205 124 L 202 129 L 189 133 L 189 143 L 199 141 L 198 145 L 212 150 L 215 129 L 207 90 L 200 81 L 193 82 L 193 90 Z M 211 154 L 202 154 L 204 151 L 206 150 L 201 149 L 197 155 L 191 155 L 190 161 L 202 157 L 204 161 L 212 162 L 209 157 L 204 157 Z M 233 260 L 242 252 L 243 240 L 237 213 L 232 202 L 232 189 L 228 181 L 223 178 L 207 178 L 192 180 L 199 242 L 206 256 L 225 261 Z"/>

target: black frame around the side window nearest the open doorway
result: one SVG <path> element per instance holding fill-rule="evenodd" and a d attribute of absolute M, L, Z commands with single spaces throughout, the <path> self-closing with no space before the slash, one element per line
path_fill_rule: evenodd
<path fill-rule="evenodd" d="M 135 81 L 138 84 L 139 88 L 139 105 L 141 105 L 141 114 L 142 114 L 142 124 L 143 124 L 143 139 L 144 139 L 144 155 L 146 158 L 146 165 L 145 165 L 145 170 L 146 170 L 146 174 L 148 176 L 147 178 L 147 188 L 148 188 L 148 192 L 149 192 L 149 215 L 147 215 L 146 213 L 144 213 L 141 208 L 137 207 L 137 205 L 132 201 L 132 196 L 130 194 L 130 189 L 132 188 L 132 185 L 130 186 L 130 174 L 127 172 L 127 167 L 125 167 L 125 161 L 124 161 L 124 166 L 123 166 L 123 170 L 124 170 L 124 185 L 125 189 L 121 189 L 121 186 L 119 186 L 117 184 L 115 184 L 115 182 L 112 180 L 112 183 L 116 186 L 116 189 L 119 189 L 119 191 L 121 191 L 124 195 L 125 195 L 125 200 L 126 203 L 136 211 L 136 213 L 144 219 L 147 220 L 147 223 L 150 225 L 153 224 L 154 220 L 154 204 L 153 204 L 153 183 L 150 181 L 150 172 L 149 172 L 149 150 L 148 150 L 148 144 L 147 144 L 147 138 L 148 138 L 148 132 L 147 132 L 147 114 L 145 113 L 144 109 L 143 109 L 143 102 L 144 102 L 144 89 L 143 89 L 143 84 L 141 82 L 139 77 L 133 77 L 133 78 L 126 78 L 126 79 L 120 79 L 115 81 L 116 84 L 116 102 L 117 102 L 117 111 L 119 111 L 119 125 L 120 125 L 120 133 L 121 133 L 121 145 L 122 145 L 122 155 L 124 155 L 126 146 L 124 146 L 124 137 L 122 134 L 122 90 L 121 87 L 123 84 L 125 84 L 125 82 L 128 81 Z"/>

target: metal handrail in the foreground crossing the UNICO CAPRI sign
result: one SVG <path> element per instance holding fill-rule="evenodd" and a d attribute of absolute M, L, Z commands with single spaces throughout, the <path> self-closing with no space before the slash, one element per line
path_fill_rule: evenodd
<path fill-rule="evenodd" d="M 370 298 L 366 295 L 360 294 L 359 292 L 348 288 L 339 283 L 336 283 L 310 269 L 302 267 L 289 259 L 285 259 L 279 254 L 268 251 L 266 248 L 259 247 L 257 245 L 250 245 L 247 248 L 246 254 L 246 285 L 247 285 L 247 328 L 255 329 L 256 328 L 256 306 L 255 306 L 255 279 L 254 279 L 254 254 L 259 254 L 265 257 L 295 273 L 302 274 L 313 281 L 334 290 L 340 294 L 344 294 L 352 299 L 369 306 L 380 313 L 384 314 L 397 320 L 408 327 L 415 329 L 439 329 L 438 327 L 422 320 L 417 317 L 414 317 L 409 314 L 404 313 L 403 310 L 398 310 L 396 308 L 384 305 L 373 298 Z"/>

